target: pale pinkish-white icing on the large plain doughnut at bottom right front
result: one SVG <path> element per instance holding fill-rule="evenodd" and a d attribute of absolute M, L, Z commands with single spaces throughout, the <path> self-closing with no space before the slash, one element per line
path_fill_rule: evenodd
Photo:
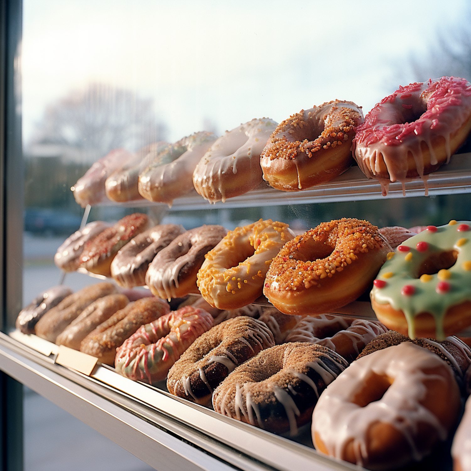
<path fill-rule="evenodd" d="M 449 366 L 446 370 L 448 378 L 425 374 L 422 370 L 445 364 L 437 355 L 410 342 L 358 359 L 321 394 L 313 414 L 313 439 L 316 432 L 329 455 L 339 459 L 344 459 L 345 446 L 353 440 L 357 464 L 363 466 L 368 464 L 366 435 L 370 425 L 387 422 L 404 434 L 414 459 L 422 459 L 429 450 L 420 449 L 417 445 L 417 423 L 433 427 L 441 440 L 446 439 L 448 433 L 437 417 L 420 403 L 427 393 L 424 382 L 441 381 L 450 388 L 456 384 Z M 381 399 L 365 407 L 357 406 L 352 398 L 372 373 L 393 378 L 393 383 Z M 455 401 L 459 401 L 457 390 Z"/>

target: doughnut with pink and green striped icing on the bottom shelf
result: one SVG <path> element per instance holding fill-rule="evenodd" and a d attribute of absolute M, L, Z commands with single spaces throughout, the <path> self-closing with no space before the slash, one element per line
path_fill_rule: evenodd
<path fill-rule="evenodd" d="M 211 327 L 211 315 L 192 306 L 159 317 L 140 327 L 118 348 L 116 371 L 134 381 L 162 381 L 180 355 Z"/>

